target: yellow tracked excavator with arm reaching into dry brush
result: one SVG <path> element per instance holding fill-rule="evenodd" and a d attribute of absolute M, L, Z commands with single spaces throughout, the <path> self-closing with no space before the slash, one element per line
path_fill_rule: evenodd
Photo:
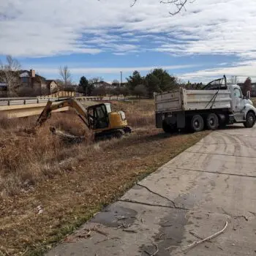
<path fill-rule="evenodd" d="M 84 108 L 76 99 L 64 99 L 55 102 L 48 101 L 37 119 L 37 126 L 41 126 L 53 110 L 69 107 L 75 110 L 86 127 L 94 132 L 94 138 L 120 138 L 124 133 L 132 130 L 128 127 L 123 111 L 112 112 L 110 103 L 100 103 Z"/>

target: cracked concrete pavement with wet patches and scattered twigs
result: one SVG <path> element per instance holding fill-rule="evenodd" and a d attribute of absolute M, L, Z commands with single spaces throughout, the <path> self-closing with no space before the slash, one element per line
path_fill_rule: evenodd
<path fill-rule="evenodd" d="M 256 255 L 256 127 L 212 132 L 47 255 Z"/>

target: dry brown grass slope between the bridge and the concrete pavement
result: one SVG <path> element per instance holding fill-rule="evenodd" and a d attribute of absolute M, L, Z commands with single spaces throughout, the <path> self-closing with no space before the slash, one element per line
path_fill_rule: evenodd
<path fill-rule="evenodd" d="M 192 146 L 207 132 L 166 136 L 154 128 L 150 101 L 113 102 L 132 135 L 91 144 L 64 143 L 56 126 L 90 138 L 80 119 L 54 115 L 37 132 L 35 118 L 0 121 L 0 255 L 41 255 L 135 181 Z M 39 214 L 38 206 L 42 213 Z"/>

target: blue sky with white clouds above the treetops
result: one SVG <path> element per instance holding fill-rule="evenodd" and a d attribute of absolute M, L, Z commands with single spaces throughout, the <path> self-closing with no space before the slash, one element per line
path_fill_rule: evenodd
<path fill-rule="evenodd" d="M 184 80 L 256 80 L 256 1 L 195 0 L 178 15 L 159 0 L 0 0 L 0 59 L 77 82 L 145 75 L 162 67 Z M 255 76 L 255 78 L 254 78 Z"/>

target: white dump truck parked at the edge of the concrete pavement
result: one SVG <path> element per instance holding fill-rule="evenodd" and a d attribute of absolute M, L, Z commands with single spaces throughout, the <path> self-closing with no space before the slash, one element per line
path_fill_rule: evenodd
<path fill-rule="evenodd" d="M 180 88 L 154 97 L 156 127 L 167 133 L 184 128 L 200 132 L 235 123 L 250 128 L 255 124 L 256 108 L 249 91 L 243 96 L 238 85 L 227 85 L 225 76 L 200 90 Z"/>

